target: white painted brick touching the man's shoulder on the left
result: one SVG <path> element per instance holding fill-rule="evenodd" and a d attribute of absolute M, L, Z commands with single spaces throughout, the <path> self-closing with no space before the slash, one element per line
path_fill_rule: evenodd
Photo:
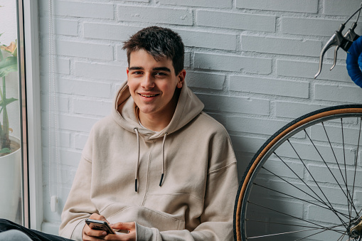
<path fill-rule="evenodd" d="M 87 118 L 73 116 L 70 114 L 59 114 L 59 129 L 74 131 L 74 132 L 90 132 L 92 126 L 99 120 L 95 118 Z"/>

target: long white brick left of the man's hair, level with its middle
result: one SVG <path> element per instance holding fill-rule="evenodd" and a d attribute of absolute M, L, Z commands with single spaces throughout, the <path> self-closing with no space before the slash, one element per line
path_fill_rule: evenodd
<path fill-rule="evenodd" d="M 113 60 L 113 47 L 105 44 L 83 43 L 73 41 L 56 41 L 58 55 L 97 60 Z"/>

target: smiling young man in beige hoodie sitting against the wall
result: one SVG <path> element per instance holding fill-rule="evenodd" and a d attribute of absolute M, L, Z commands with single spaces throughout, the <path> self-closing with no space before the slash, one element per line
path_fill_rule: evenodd
<path fill-rule="evenodd" d="M 144 28 L 124 43 L 129 67 L 112 115 L 82 151 L 62 214 L 73 240 L 232 240 L 238 189 L 225 128 L 186 86 L 183 43 Z M 92 230 L 105 220 L 128 234 Z"/>

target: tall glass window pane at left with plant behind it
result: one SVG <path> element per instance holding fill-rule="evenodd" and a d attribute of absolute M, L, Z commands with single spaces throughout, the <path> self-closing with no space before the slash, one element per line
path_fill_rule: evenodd
<path fill-rule="evenodd" d="M 17 6 L 0 5 L 0 218 L 22 224 Z"/>

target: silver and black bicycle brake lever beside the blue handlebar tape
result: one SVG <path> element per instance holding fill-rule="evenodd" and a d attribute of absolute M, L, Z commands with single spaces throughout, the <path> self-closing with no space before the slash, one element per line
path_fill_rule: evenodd
<path fill-rule="evenodd" d="M 333 68 L 336 66 L 337 51 L 339 50 L 339 48 L 342 48 L 343 50 L 345 50 L 348 53 L 348 48 L 351 47 L 353 41 L 356 41 L 356 39 L 359 38 L 358 34 L 355 33 L 354 29 L 357 26 L 357 21 L 358 21 L 361 9 L 362 9 L 362 3 L 361 3 L 361 7 L 354 14 L 352 14 L 352 16 L 349 17 L 345 23 L 341 23 L 339 30 L 335 31 L 334 35 L 331 36 L 331 38 L 329 38 L 329 41 L 326 43 L 326 45 L 324 45 L 324 47 L 321 50 L 321 54 L 319 55 L 319 70 L 316 73 L 316 75 L 314 75 L 314 79 L 316 77 L 318 77 L 318 75 L 321 73 L 321 66 L 323 65 L 323 57 L 324 57 L 324 54 L 326 53 L 326 51 L 329 50 L 329 48 L 336 46 L 336 48 L 334 49 L 333 65 L 330 69 L 330 70 L 333 70 Z M 356 21 L 354 23 L 352 23 L 351 28 L 348 28 L 348 31 L 343 36 L 342 31 L 344 31 L 346 23 L 348 23 L 348 21 L 355 14 L 357 14 L 357 12 L 358 12 L 358 17 L 357 17 Z"/>

